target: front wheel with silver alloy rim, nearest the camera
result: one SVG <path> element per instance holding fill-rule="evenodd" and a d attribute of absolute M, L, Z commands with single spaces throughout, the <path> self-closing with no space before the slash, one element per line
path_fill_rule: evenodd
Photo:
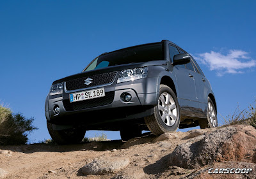
<path fill-rule="evenodd" d="M 154 113 L 145 117 L 145 123 L 156 136 L 177 131 L 180 124 L 180 108 L 177 97 L 170 87 L 160 85 L 158 104 L 154 107 Z"/>

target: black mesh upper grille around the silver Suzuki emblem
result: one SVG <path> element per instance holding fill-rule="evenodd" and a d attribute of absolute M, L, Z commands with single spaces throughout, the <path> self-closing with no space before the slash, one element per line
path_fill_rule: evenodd
<path fill-rule="evenodd" d="M 66 89 L 67 90 L 76 90 L 76 89 L 85 89 L 88 87 L 95 87 L 98 85 L 104 85 L 108 83 L 112 83 L 115 80 L 116 76 L 116 71 L 115 72 L 109 72 L 109 73 L 102 73 L 99 75 L 92 75 L 92 76 L 86 76 L 83 78 L 77 78 L 74 80 L 69 80 L 66 82 Z M 92 78 L 92 83 L 89 85 L 84 84 L 84 80 L 87 78 Z"/>

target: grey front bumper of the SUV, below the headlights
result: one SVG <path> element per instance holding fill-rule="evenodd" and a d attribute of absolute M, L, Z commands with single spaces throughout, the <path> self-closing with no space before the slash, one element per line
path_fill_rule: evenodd
<path fill-rule="evenodd" d="M 159 95 L 157 92 L 157 80 L 157 77 L 153 77 L 116 83 L 115 79 L 115 82 L 112 84 L 104 86 L 106 94 L 113 94 L 111 103 L 79 110 L 67 108 L 67 104 L 64 103 L 67 103 L 69 100 L 70 93 L 87 89 L 72 92 L 64 90 L 63 94 L 47 96 L 45 100 L 45 116 L 49 122 L 58 125 L 95 125 L 146 117 L 152 115 L 152 108 L 157 104 L 157 97 Z M 90 90 L 98 88 L 93 87 Z M 131 94 L 131 101 L 125 103 L 121 100 L 120 96 L 124 92 Z M 100 97 L 97 99 L 100 99 Z M 85 100 L 85 102 L 90 103 L 90 100 L 92 99 Z M 60 107 L 58 115 L 55 115 L 53 112 L 53 108 L 56 105 Z"/>

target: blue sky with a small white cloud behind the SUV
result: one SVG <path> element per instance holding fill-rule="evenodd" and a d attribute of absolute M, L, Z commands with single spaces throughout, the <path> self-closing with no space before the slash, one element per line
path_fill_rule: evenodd
<path fill-rule="evenodd" d="M 97 55 L 168 39 L 211 82 L 218 120 L 256 99 L 256 1 L 0 1 L 0 103 L 35 118 L 29 142 L 51 138 L 51 84 Z M 182 131 L 188 131 L 184 129 Z M 119 132 L 106 132 L 111 140 Z M 93 137 L 100 131 L 88 131 Z"/>

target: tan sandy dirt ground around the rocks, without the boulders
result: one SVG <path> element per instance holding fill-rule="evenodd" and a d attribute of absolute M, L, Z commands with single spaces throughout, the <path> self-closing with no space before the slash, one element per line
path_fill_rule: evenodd
<path fill-rule="evenodd" d="M 194 143 L 204 132 L 172 132 L 166 140 L 151 133 L 127 142 L 100 141 L 79 145 L 32 144 L 0 147 L 0 169 L 6 178 L 183 178 L 195 169 L 168 166 L 168 159 L 177 145 Z M 2 151 L 2 154 L 1 154 Z M 5 151 L 5 152 L 3 152 Z M 129 165 L 116 173 L 84 175 L 82 168 L 93 159 L 129 159 Z M 0 176 L 1 178 L 1 176 Z"/>

